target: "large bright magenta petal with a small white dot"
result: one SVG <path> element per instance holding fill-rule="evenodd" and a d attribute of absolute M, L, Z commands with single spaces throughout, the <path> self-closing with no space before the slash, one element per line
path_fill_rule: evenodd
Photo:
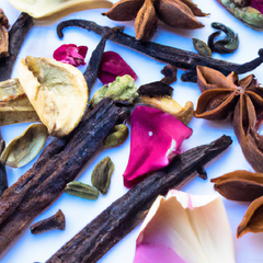
<path fill-rule="evenodd" d="M 130 124 L 130 153 L 123 175 L 126 187 L 133 187 L 146 173 L 168 165 L 193 133 L 178 118 L 149 106 L 137 106 Z"/>

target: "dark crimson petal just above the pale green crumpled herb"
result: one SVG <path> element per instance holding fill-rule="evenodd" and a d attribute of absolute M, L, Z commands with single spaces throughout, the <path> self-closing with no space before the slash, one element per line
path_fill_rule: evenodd
<path fill-rule="evenodd" d="M 101 65 L 98 71 L 98 78 L 103 84 L 113 82 L 116 77 L 129 75 L 137 80 L 135 71 L 114 52 L 106 52 L 102 56 Z"/>

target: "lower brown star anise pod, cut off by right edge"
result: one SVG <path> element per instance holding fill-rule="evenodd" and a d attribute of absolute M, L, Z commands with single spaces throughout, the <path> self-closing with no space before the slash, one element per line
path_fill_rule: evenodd
<path fill-rule="evenodd" d="M 253 201 L 238 226 L 237 238 L 247 232 L 263 232 L 263 196 Z"/>

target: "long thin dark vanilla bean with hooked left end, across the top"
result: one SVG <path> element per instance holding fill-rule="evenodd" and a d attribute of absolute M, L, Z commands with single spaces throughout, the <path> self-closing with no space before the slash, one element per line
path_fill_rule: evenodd
<path fill-rule="evenodd" d="M 57 33 L 60 38 L 64 36 L 62 30 L 68 26 L 78 26 L 88 31 L 93 31 L 95 34 L 99 35 L 104 34 L 106 30 L 113 31 L 113 34 L 108 36 L 110 41 L 127 46 L 130 49 L 137 50 L 147 56 L 150 56 L 158 61 L 173 65 L 182 70 L 192 71 L 192 75 L 196 73 L 195 67 L 197 65 L 217 69 L 224 75 L 229 75 L 231 71 L 240 75 L 255 69 L 263 62 L 263 48 L 259 50 L 258 58 L 249 62 L 238 65 L 219 59 L 214 59 L 210 57 L 204 57 L 196 53 L 160 45 L 155 42 L 139 42 L 136 41 L 135 37 L 123 33 L 124 27 L 111 28 L 108 26 L 101 26 L 94 22 L 85 20 L 68 20 L 58 24 Z M 192 77 L 190 79 L 193 80 L 194 78 Z"/>

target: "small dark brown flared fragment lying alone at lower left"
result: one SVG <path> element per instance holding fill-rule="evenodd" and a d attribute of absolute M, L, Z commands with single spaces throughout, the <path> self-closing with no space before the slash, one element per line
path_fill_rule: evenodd
<path fill-rule="evenodd" d="M 32 225 L 31 232 L 36 235 L 54 229 L 65 230 L 65 227 L 66 227 L 65 215 L 59 209 L 54 216 Z"/>

